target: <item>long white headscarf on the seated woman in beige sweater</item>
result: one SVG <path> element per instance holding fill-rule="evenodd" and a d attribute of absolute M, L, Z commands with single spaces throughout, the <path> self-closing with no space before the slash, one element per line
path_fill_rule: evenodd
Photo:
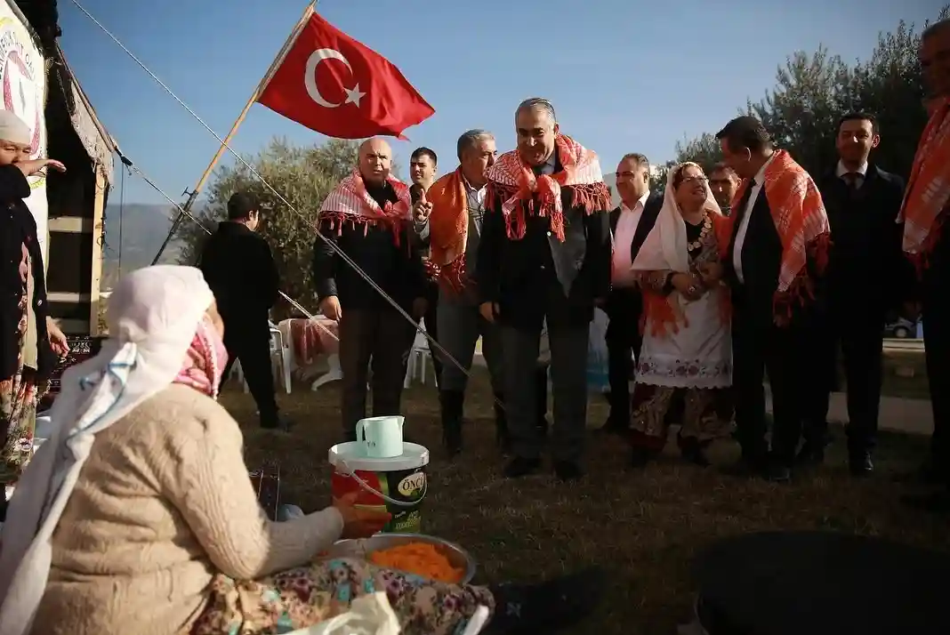
<path fill-rule="evenodd" d="M 112 292 L 109 339 L 63 374 L 55 432 L 10 500 L 0 534 L 0 635 L 29 632 L 47 587 L 52 533 L 96 433 L 175 380 L 214 299 L 201 271 L 167 265 L 133 271 Z"/>

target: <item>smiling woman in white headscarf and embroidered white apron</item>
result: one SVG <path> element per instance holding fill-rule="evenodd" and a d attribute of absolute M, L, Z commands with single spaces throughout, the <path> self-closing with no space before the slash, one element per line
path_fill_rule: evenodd
<path fill-rule="evenodd" d="M 708 465 L 704 449 L 729 433 L 723 415 L 732 383 L 730 307 L 719 264 L 729 238 L 724 220 L 702 168 L 687 162 L 671 170 L 656 227 L 633 265 L 644 305 L 631 406 L 635 466 L 663 450 L 677 393 L 685 403 L 683 458 Z"/>

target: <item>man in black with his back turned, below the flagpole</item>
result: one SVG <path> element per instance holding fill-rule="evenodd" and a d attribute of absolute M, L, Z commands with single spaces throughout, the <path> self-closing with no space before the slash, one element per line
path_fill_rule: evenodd
<path fill-rule="evenodd" d="M 257 402 L 260 425 L 282 426 L 274 396 L 269 311 L 280 279 L 271 248 L 260 234 L 260 211 L 253 197 L 237 193 L 228 200 L 228 219 L 204 244 L 200 269 L 215 293 L 228 349 L 227 377 L 240 360 L 247 387 Z"/>

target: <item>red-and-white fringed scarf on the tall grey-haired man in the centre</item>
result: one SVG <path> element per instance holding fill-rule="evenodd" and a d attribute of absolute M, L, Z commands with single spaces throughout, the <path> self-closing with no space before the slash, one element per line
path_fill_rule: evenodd
<path fill-rule="evenodd" d="M 564 211 L 561 189 L 571 193 L 571 205 L 593 214 L 610 209 L 610 192 L 604 185 L 597 154 L 566 135 L 555 138 L 562 170 L 547 176 L 535 176 L 517 150 L 504 153 L 488 172 L 485 207 L 495 209 L 502 201 L 502 214 L 508 238 L 521 240 L 525 215 L 547 216 L 551 232 L 564 240 Z"/>

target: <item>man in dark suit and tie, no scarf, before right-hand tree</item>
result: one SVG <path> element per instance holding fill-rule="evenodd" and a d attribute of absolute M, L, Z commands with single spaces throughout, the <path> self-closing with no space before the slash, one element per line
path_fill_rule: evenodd
<path fill-rule="evenodd" d="M 853 112 L 838 123 L 840 160 L 818 186 L 831 225 L 824 308 L 816 331 L 824 381 L 805 427 L 804 463 L 824 459 L 828 394 L 837 374 L 839 346 L 847 384 L 847 447 L 851 473 L 869 474 L 881 401 L 883 328 L 888 312 L 902 307 L 913 289 L 914 271 L 903 257 L 903 223 L 897 223 L 903 179 L 868 161 L 881 142 L 869 113 Z"/>

